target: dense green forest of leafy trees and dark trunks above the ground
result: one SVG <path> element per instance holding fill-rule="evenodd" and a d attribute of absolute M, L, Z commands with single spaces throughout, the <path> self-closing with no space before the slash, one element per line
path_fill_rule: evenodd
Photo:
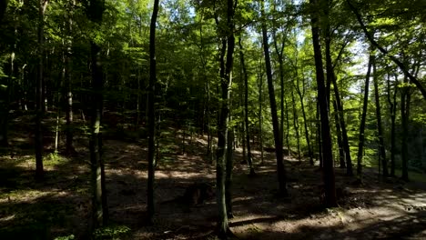
<path fill-rule="evenodd" d="M 232 235 L 233 151 L 253 177 L 275 153 L 277 197 L 289 197 L 285 157 L 320 167 L 327 207 L 340 197 L 335 167 L 360 185 L 371 167 L 416 180 L 426 172 L 424 9 L 422 0 L 3 0 L 2 155 L 18 155 L 24 133 L 43 182 L 46 159 L 89 152 L 95 229 L 108 218 L 103 141 L 147 139 L 135 157 L 147 162 L 153 224 L 156 168 L 203 136 L 221 238 Z"/>

